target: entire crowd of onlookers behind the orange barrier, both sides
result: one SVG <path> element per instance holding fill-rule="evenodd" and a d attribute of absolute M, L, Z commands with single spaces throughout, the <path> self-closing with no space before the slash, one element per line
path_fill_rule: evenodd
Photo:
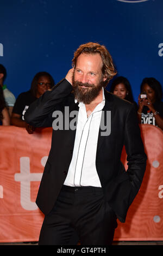
<path fill-rule="evenodd" d="M 34 100 L 47 90 L 51 90 L 55 85 L 54 79 L 47 72 L 37 73 L 32 80 L 30 90 L 20 93 L 15 99 L 14 94 L 4 85 L 6 76 L 6 69 L 0 64 L 0 125 L 24 127 L 31 134 L 35 128 L 24 121 L 24 113 Z M 139 123 L 152 124 L 163 130 L 162 87 L 158 80 L 143 79 L 137 103 L 134 101 L 130 82 L 123 76 L 118 76 L 112 81 L 110 92 L 134 104 Z"/>

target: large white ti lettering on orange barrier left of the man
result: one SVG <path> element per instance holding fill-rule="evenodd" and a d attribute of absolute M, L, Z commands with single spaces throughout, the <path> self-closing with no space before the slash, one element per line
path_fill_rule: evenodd
<path fill-rule="evenodd" d="M 41 165 L 45 167 L 47 156 L 41 158 Z M 30 172 L 30 159 L 29 157 L 20 158 L 20 173 L 15 174 L 15 181 L 21 183 L 21 206 L 25 210 L 33 211 L 37 209 L 35 202 L 30 200 L 30 182 L 41 181 L 42 172 Z"/>

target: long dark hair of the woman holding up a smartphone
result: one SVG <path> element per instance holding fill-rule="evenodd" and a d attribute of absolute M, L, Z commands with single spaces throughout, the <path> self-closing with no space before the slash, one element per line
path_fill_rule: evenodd
<path fill-rule="evenodd" d="M 142 92 L 143 85 L 149 85 L 155 92 L 155 101 L 161 102 L 162 99 L 162 87 L 158 80 L 155 78 L 144 78 L 140 86 L 140 92 Z"/>

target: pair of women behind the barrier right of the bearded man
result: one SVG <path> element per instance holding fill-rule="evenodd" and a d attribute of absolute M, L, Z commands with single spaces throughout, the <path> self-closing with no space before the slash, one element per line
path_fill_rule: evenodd
<path fill-rule="evenodd" d="M 153 124 L 163 130 L 162 87 L 158 80 L 143 79 L 138 103 L 134 102 L 130 82 L 123 76 L 118 76 L 112 82 L 110 92 L 134 104 L 139 123 Z"/>

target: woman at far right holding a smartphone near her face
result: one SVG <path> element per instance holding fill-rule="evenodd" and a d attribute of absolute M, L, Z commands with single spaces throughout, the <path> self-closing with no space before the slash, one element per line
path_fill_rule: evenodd
<path fill-rule="evenodd" d="M 145 78 L 140 86 L 137 110 L 139 123 L 148 123 L 163 130 L 163 102 L 161 84 L 155 78 Z"/>

